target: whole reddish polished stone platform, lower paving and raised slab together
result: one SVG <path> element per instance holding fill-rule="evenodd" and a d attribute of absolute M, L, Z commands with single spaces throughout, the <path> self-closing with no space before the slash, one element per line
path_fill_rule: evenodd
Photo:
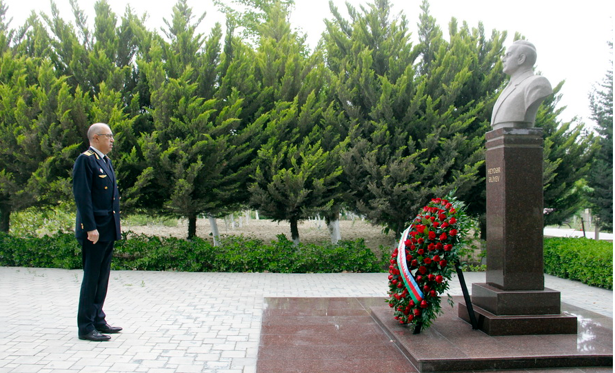
<path fill-rule="evenodd" d="M 458 303 L 463 300 L 455 296 Z M 611 373 L 613 321 L 563 303 L 576 335 L 488 336 L 445 311 L 421 334 L 383 298 L 265 298 L 256 372 Z"/>

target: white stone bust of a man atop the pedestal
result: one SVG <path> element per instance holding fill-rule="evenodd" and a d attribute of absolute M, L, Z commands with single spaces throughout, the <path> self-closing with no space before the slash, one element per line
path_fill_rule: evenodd
<path fill-rule="evenodd" d="M 517 40 L 506 51 L 502 63 L 510 81 L 494 105 L 491 126 L 494 130 L 533 128 L 538 106 L 553 92 L 545 77 L 534 75 L 536 47 L 529 41 Z"/>

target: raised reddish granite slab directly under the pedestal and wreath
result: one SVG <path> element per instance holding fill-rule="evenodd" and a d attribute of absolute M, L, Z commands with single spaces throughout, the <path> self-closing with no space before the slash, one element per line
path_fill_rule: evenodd
<path fill-rule="evenodd" d="M 455 303 L 463 300 L 454 297 Z M 443 304 L 443 314 L 421 334 L 396 322 L 388 307 L 373 307 L 374 319 L 419 372 L 534 370 L 613 366 L 613 320 L 562 303 L 578 319 L 578 334 L 490 336 L 472 330 Z"/>

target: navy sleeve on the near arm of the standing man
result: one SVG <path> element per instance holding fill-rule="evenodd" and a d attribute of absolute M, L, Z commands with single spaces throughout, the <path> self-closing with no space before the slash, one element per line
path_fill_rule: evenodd
<path fill-rule="evenodd" d="M 96 229 L 92 208 L 92 174 L 90 159 L 84 155 L 77 157 L 72 168 L 72 194 L 85 232 Z"/>

